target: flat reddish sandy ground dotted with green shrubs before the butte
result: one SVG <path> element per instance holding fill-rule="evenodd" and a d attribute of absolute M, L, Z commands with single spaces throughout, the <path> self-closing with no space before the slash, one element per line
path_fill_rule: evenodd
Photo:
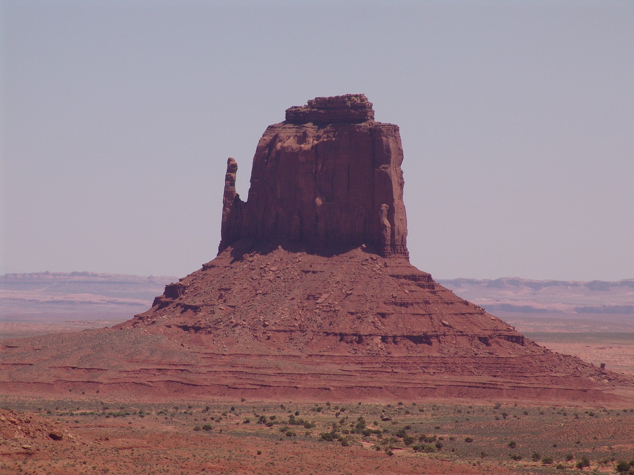
<path fill-rule="evenodd" d="M 0 413 L 0 474 L 550 474 L 634 458 L 628 408 L 0 402 L 20 410 Z"/>

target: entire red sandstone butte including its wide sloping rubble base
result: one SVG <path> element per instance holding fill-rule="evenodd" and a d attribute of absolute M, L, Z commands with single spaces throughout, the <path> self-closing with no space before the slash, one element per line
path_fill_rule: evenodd
<path fill-rule="evenodd" d="M 399 128 L 363 94 L 287 109 L 214 260 L 112 329 L 16 340 L 10 393 L 607 403 L 632 382 L 524 338 L 410 264 Z M 7 390 L 4 391 L 5 393 Z M 66 393 L 67 394 L 67 393 Z"/>

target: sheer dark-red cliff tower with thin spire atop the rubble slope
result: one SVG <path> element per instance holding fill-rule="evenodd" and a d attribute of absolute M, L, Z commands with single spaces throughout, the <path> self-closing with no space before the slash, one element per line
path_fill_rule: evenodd
<path fill-rule="evenodd" d="M 375 122 L 363 94 L 288 108 L 257 145 L 246 202 L 228 160 L 219 250 L 250 238 L 407 256 L 401 162 L 398 126 Z"/>

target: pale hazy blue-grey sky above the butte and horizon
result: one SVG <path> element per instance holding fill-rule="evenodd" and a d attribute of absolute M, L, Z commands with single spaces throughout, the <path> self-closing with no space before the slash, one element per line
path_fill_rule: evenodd
<path fill-rule="evenodd" d="M 401 127 L 411 262 L 634 278 L 634 1 L 0 0 L 0 274 L 184 276 L 289 106 Z"/>

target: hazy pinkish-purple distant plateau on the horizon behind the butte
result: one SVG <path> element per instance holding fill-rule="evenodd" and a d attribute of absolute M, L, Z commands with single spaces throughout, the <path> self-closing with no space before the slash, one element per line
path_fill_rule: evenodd
<path fill-rule="evenodd" d="M 0 277 L 0 318 L 12 314 L 90 314 L 94 310 L 133 315 L 145 310 L 174 276 L 133 276 L 98 272 L 32 272 Z M 634 279 L 621 281 L 536 281 L 437 279 L 487 312 L 516 314 L 634 315 Z"/>

